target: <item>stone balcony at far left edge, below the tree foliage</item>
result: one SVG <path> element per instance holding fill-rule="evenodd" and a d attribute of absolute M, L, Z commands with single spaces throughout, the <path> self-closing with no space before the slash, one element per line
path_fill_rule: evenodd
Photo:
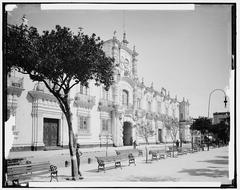
<path fill-rule="evenodd" d="M 10 76 L 7 79 L 7 93 L 20 96 L 23 91 L 23 77 Z"/>

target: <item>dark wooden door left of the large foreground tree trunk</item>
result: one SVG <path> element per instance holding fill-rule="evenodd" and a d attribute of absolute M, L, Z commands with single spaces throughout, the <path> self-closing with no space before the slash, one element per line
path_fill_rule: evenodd
<path fill-rule="evenodd" d="M 45 146 L 57 146 L 58 123 L 57 119 L 44 118 L 43 142 Z"/>

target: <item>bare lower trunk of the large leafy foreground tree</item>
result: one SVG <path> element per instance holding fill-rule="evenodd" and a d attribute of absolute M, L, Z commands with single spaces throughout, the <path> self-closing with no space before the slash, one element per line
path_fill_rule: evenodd
<path fill-rule="evenodd" d="M 75 137 L 72 129 L 72 114 L 70 112 L 70 109 L 67 110 L 67 113 L 65 114 L 67 123 L 68 123 L 68 136 L 69 136 L 69 151 L 70 151 L 70 157 L 71 157 L 71 170 L 72 170 L 72 180 L 76 180 L 76 177 L 78 175 L 78 169 L 77 169 L 77 157 L 76 157 L 76 145 L 75 145 Z"/>

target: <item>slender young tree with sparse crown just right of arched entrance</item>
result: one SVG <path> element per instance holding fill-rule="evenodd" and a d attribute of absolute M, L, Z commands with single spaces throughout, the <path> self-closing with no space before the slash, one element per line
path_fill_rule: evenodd
<path fill-rule="evenodd" d="M 155 134 L 155 131 L 152 128 L 151 122 L 146 120 L 146 121 L 141 121 L 140 123 L 137 124 L 137 132 L 138 132 L 138 136 L 142 137 L 145 140 L 146 163 L 147 163 L 148 161 L 147 145 L 149 144 L 148 139 Z"/>

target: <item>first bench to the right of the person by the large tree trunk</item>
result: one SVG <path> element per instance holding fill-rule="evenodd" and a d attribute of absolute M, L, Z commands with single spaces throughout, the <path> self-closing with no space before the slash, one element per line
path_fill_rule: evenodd
<path fill-rule="evenodd" d="M 100 170 L 106 171 L 106 164 L 108 163 L 114 163 L 115 168 L 120 167 L 122 169 L 121 165 L 121 159 L 118 156 L 103 156 L 103 157 L 96 157 L 97 163 L 98 163 L 98 172 Z"/>

